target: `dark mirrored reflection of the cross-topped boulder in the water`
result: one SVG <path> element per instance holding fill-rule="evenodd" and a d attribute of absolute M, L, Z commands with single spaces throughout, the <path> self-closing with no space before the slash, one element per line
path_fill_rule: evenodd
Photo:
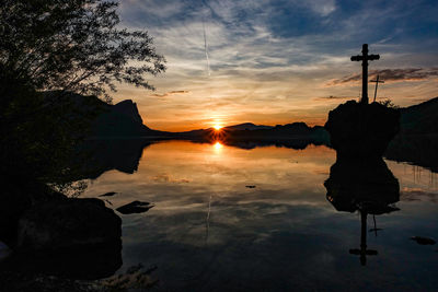
<path fill-rule="evenodd" d="M 337 211 L 359 211 L 361 232 L 360 248 L 349 250 L 360 257 L 362 266 L 367 256 L 378 252 L 367 248 L 367 217 L 373 215 L 376 234 L 376 215 L 400 210 L 394 206 L 400 200 L 399 180 L 388 168 L 382 159 L 342 160 L 338 159 L 330 170 L 330 177 L 324 183 L 327 189 L 326 198 Z"/>

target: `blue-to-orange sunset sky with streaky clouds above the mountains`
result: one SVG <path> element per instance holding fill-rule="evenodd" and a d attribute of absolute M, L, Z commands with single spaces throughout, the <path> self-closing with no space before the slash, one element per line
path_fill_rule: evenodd
<path fill-rule="evenodd" d="M 122 0 L 122 25 L 146 30 L 166 71 L 157 90 L 118 86 L 153 129 L 304 121 L 361 93 L 362 44 L 380 60 L 378 100 L 438 96 L 438 1 Z M 369 84 L 372 100 L 374 83 Z"/>

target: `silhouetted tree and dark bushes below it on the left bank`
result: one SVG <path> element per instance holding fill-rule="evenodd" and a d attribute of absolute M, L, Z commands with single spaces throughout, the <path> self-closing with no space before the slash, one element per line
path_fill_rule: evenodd
<path fill-rule="evenodd" d="M 164 58 L 146 31 L 118 28 L 117 5 L 101 0 L 2 1 L 3 178 L 67 183 L 64 162 L 102 108 L 87 95 L 110 101 L 107 92 L 120 82 L 153 89 L 146 73 L 163 72 Z"/>

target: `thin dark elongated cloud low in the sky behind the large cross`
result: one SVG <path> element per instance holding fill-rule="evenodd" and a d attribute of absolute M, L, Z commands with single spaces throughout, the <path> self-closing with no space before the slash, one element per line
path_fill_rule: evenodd
<path fill-rule="evenodd" d="M 405 69 L 382 69 L 371 70 L 370 80 L 379 75 L 384 82 L 422 81 L 431 77 L 438 77 L 438 68 L 405 68 Z M 361 73 L 346 75 L 341 79 L 333 79 L 326 85 L 357 85 L 362 80 Z"/>

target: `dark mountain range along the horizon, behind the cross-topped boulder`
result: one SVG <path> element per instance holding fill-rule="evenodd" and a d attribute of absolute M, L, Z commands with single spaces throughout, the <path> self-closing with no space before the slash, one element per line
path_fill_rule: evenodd
<path fill-rule="evenodd" d="M 223 127 L 220 131 L 208 128 L 168 132 L 153 130 L 146 126 L 136 103 L 130 100 L 111 105 L 95 96 L 67 93 L 62 94 L 62 98 L 60 98 L 59 92 L 56 91 L 45 92 L 44 94 L 49 104 L 58 104 L 58 106 L 61 104 L 62 115 L 66 116 L 66 119 L 69 119 L 70 124 L 84 124 L 88 120 L 87 139 L 176 139 L 210 143 L 219 140 L 224 144 L 243 149 L 265 145 L 303 149 L 310 143 L 333 147 L 330 135 L 323 127 L 309 127 L 304 122 L 276 126 L 244 122 Z M 399 112 L 401 114 L 400 132 L 390 142 L 384 156 L 395 161 L 412 162 L 438 172 L 438 153 L 436 151 L 438 149 L 438 116 L 436 115 L 438 97 L 401 108 Z M 374 122 L 374 115 L 371 115 L 369 120 Z M 353 128 L 349 130 L 355 131 Z M 374 132 L 370 132 L 369 136 L 374 137 Z M 349 135 L 348 137 L 353 136 Z M 145 142 L 132 143 L 141 147 Z M 112 166 L 107 165 L 107 167 Z"/>

